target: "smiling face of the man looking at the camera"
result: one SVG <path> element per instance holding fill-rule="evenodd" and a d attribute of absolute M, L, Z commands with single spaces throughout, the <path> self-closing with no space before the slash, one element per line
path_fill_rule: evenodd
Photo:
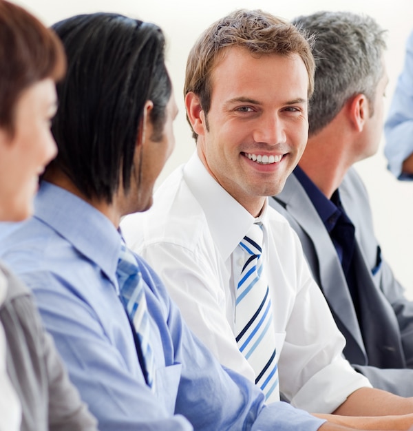
<path fill-rule="evenodd" d="M 257 215 L 264 196 L 282 190 L 307 142 L 306 67 L 297 54 L 253 56 L 229 48 L 213 69 L 211 87 L 211 109 L 207 118 L 200 110 L 195 130 L 198 154 L 220 185 Z"/>

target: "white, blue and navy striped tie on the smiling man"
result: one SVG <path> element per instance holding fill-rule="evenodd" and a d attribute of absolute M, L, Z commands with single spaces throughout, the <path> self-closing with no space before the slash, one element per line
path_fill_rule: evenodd
<path fill-rule="evenodd" d="M 279 401 L 275 330 L 268 283 L 262 273 L 261 224 L 253 224 L 240 242 L 245 255 L 235 295 L 237 346 L 255 371 L 266 402 Z"/>

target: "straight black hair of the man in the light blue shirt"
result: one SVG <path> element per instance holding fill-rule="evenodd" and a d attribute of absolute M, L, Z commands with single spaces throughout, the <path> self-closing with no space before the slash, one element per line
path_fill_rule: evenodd
<path fill-rule="evenodd" d="M 59 109 L 52 162 L 87 198 L 112 202 L 128 191 L 146 101 L 160 140 L 171 96 L 160 28 L 120 14 L 82 14 L 52 26 L 63 42 L 67 74 L 57 85 Z"/>

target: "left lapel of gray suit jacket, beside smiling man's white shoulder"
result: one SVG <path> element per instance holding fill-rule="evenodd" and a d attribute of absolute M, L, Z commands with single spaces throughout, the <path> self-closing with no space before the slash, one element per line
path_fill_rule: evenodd
<path fill-rule="evenodd" d="M 306 246 L 305 241 L 312 243 L 319 266 L 319 273 L 315 274 L 315 278 L 317 280 L 318 277 L 320 280 L 321 290 L 324 292 L 333 315 L 339 320 L 337 322 L 339 328 L 347 339 L 348 337 L 354 339 L 360 349 L 360 355 L 365 358 L 366 352 L 363 347 L 359 323 L 357 322 L 357 316 L 352 305 L 346 278 L 341 269 L 339 257 L 324 227 L 324 223 L 319 218 L 313 203 L 294 174 L 288 177 L 283 191 L 276 198 L 279 202 L 282 202 L 287 213 L 306 234 L 304 237 L 304 235 L 297 232 L 306 253 L 311 248 Z M 317 272 L 316 268 L 312 267 L 311 270 L 313 273 Z M 363 362 L 362 357 L 360 358 L 362 359 L 361 362 Z"/>

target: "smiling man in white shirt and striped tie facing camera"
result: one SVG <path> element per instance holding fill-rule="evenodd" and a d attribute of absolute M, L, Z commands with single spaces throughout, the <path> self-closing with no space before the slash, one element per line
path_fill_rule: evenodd
<path fill-rule="evenodd" d="M 310 412 L 411 412 L 343 359 L 297 235 L 271 207 L 304 151 L 314 60 L 290 23 L 235 11 L 202 34 L 184 85 L 196 151 L 123 222 L 218 359 Z M 261 342 L 264 341 L 264 342 Z M 384 429 L 384 428 L 383 428 Z"/>

